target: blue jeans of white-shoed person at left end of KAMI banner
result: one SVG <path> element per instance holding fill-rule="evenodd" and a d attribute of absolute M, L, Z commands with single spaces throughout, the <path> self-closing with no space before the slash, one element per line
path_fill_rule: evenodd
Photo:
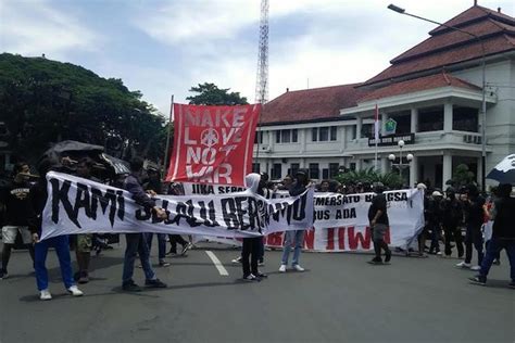
<path fill-rule="evenodd" d="M 36 270 L 36 283 L 38 291 L 48 289 L 48 270 L 45 266 L 47 262 L 48 249 L 55 249 L 61 267 L 61 277 L 66 289 L 75 284 L 73 279 L 72 259 L 70 257 L 70 244 L 67 236 L 58 236 L 46 239 L 34 245 L 35 258 L 34 269 Z"/>

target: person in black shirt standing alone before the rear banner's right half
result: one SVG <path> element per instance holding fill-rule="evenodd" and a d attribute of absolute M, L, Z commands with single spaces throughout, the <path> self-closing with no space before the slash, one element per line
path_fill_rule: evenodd
<path fill-rule="evenodd" d="M 385 186 L 381 182 L 377 182 L 374 187 L 376 196 L 370 203 L 368 208 L 368 220 L 370 221 L 372 240 L 374 242 L 374 252 L 376 256 L 369 262 L 370 264 L 381 264 L 381 249 L 385 251 L 385 263 L 389 263 L 391 259 L 391 251 L 388 244 L 385 242 L 385 233 L 388 230 L 388 212 L 387 212 L 387 200 L 385 194 Z"/>

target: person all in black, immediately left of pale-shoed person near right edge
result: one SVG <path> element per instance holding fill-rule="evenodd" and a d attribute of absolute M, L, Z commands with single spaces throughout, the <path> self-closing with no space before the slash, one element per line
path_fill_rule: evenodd
<path fill-rule="evenodd" d="M 459 227 L 463 220 L 463 207 L 460 200 L 456 199 L 454 188 L 449 187 L 445 190 L 445 199 L 440 204 L 443 233 L 445 234 L 444 257 L 451 257 L 451 241 L 454 240 L 457 257 L 463 258 L 463 237 Z"/>

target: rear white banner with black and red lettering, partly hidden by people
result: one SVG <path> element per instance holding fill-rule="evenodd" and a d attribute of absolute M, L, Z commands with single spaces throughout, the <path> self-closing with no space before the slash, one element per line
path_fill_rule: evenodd
<path fill-rule="evenodd" d="M 276 196 L 285 195 L 287 192 L 276 193 Z M 411 189 L 387 191 L 385 195 L 390 221 L 385 240 L 390 246 L 406 249 L 424 227 L 424 192 Z M 304 249 L 321 252 L 372 250 L 368 207 L 373 198 L 374 193 L 315 193 L 314 229 L 305 232 Z M 216 238 L 210 240 L 216 241 Z M 282 232 L 265 238 L 269 247 L 281 249 L 282 242 Z"/>

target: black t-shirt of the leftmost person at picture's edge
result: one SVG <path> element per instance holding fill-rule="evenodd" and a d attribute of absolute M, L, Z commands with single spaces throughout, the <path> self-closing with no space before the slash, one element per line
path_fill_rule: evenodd
<path fill-rule="evenodd" d="M 0 202 L 5 205 L 3 225 L 28 226 L 34 214 L 30 202 L 30 183 L 10 181 L 0 190 Z"/>

